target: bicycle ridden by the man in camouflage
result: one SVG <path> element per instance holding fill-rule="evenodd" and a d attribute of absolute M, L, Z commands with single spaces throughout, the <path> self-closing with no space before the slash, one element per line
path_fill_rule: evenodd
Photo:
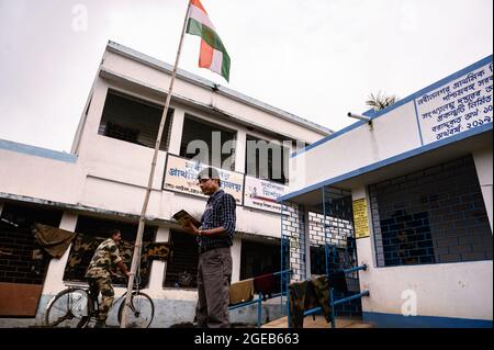
<path fill-rule="evenodd" d="M 125 306 L 125 292 L 110 308 L 119 303 L 117 320 L 122 321 Z M 123 302 L 122 302 L 123 301 Z M 98 319 L 99 303 L 89 287 L 69 286 L 59 292 L 46 307 L 45 325 L 47 327 L 86 328 L 91 320 Z M 155 304 L 149 295 L 134 289 L 127 312 L 128 328 L 148 328 L 155 316 Z"/>

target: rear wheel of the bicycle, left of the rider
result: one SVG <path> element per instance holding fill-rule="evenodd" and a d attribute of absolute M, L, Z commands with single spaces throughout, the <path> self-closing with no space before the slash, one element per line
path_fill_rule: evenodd
<path fill-rule="evenodd" d="M 83 328 L 91 316 L 92 305 L 83 289 L 67 289 L 49 302 L 45 314 L 47 327 Z"/>

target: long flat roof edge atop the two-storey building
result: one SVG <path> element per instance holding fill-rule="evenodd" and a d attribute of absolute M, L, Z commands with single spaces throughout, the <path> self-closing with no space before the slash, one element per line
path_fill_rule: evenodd
<path fill-rule="evenodd" d="M 147 55 L 145 55 L 143 53 L 139 53 L 139 52 L 137 52 L 135 49 L 132 49 L 130 47 L 126 47 L 124 45 L 121 45 L 121 44 L 112 42 L 112 41 L 109 41 L 109 43 L 106 45 L 106 49 L 109 52 L 112 52 L 112 53 L 119 54 L 121 56 L 131 58 L 131 59 L 139 61 L 139 63 L 142 63 L 142 64 L 144 64 L 144 65 L 146 65 L 148 67 L 153 67 L 155 69 L 158 69 L 160 71 L 164 71 L 164 72 L 167 72 L 167 74 L 170 74 L 170 75 L 171 75 L 171 71 L 173 69 L 173 66 L 171 66 L 171 65 L 169 65 L 169 64 L 167 64 L 165 61 L 161 61 L 159 59 L 153 58 L 150 56 L 147 56 Z M 294 124 L 297 124 L 297 125 L 304 126 L 304 127 L 306 127 L 308 129 L 312 129 L 312 131 L 315 131 L 317 133 L 321 133 L 324 136 L 327 136 L 327 135 L 330 135 L 330 134 L 334 133 L 334 131 L 332 131 L 332 129 L 329 129 L 329 128 L 327 128 L 325 126 L 318 125 L 318 124 L 316 124 L 314 122 L 307 121 L 307 120 L 305 120 L 303 117 L 300 117 L 300 116 L 297 116 L 295 114 L 285 112 L 283 110 L 278 109 L 278 108 L 274 108 L 274 106 L 272 106 L 270 104 L 267 104 L 265 102 L 261 102 L 259 100 L 256 100 L 254 98 L 245 95 L 245 94 L 243 94 L 240 92 L 237 92 L 237 91 L 234 91 L 232 89 L 225 88 L 225 87 L 223 87 L 221 84 L 217 84 L 217 83 L 215 83 L 215 82 L 213 82 L 211 80 L 207 80 L 207 79 L 204 79 L 204 78 L 202 78 L 200 76 L 191 74 L 191 72 L 189 72 L 187 70 L 182 70 L 180 68 L 177 69 L 177 77 L 179 77 L 180 79 L 186 80 L 186 81 L 188 81 L 190 83 L 193 83 L 195 86 L 199 86 L 199 87 L 202 87 L 202 88 L 206 88 L 206 89 L 211 89 L 211 90 L 215 91 L 216 93 L 225 95 L 225 97 L 227 97 L 227 98 L 229 98 L 232 100 L 242 102 L 244 104 L 247 104 L 249 106 L 256 108 L 258 110 L 262 110 L 265 112 L 273 114 L 273 115 L 276 115 L 276 116 L 278 116 L 280 118 L 283 118 L 285 121 L 292 122 Z"/>

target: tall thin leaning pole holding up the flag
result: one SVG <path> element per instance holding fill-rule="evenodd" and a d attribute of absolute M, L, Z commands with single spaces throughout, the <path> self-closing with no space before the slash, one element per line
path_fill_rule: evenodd
<path fill-rule="evenodd" d="M 156 139 L 155 153 L 153 156 L 149 179 L 147 182 L 146 195 L 144 197 L 143 210 L 141 211 L 139 226 L 137 228 L 137 236 L 136 236 L 136 240 L 135 240 L 135 245 L 134 245 L 134 253 L 132 256 L 131 275 L 128 276 L 128 283 L 127 283 L 127 294 L 125 296 L 125 307 L 123 308 L 120 328 L 126 328 L 126 326 L 127 326 L 127 312 L 131 306 L 131 295 L 132 295 L 132 290 L 133 290 L 133 285 L 134 285 L 134 276 L 137 271 L 137 267 L 141 262 L 141 248 L 143 245 L 143 233 L 144 233 L 146 210 L 147 210 L 147 204 L 149 203 L 149 196 L 150 196 L 151 187 L 153 187 L 153 178 L 155 176 L 155 169 L 156 169 L 156 160 L 158 158 L 159 145 L 161 144 L 161 134 L 165 128 L 165 122 L 167 120 L 168 109 L 170 106 L 171 93 L 173 90 L 175 78 L 177 76 L 177 68 L 178 68 L 178 64 L 179 64 L 179 59 L 180 59 L 180 52 L 182 50 L 183 37 L 186 35 L 187 20 L 189 18 L 189 9 L 190 9 L 190 1 L 189 1 L 189 4 L 187 5 L 186 19 L 183 20 L 182 33 L 180 36 L 180 43 L 179 43 L 179 47 L 177 50 L 177 58 L 175 60 L 173 70 L 171 72 L 170 87 L 168 89 L 167 100 L 165 102 L 165 109 L 162 111 L 161 122 L 159 124 L 158 137 Z"/>

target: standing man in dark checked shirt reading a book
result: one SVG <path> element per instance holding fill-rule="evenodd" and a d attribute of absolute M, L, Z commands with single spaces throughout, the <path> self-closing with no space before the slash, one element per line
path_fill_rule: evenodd
<path fill-rule="evenodd" d="M 203 169 L 199 176 L 201 191 L 209 195 L 201 226 L 189 223 L 198 236 L 198 305 L 195 315 L 202 328 L 229 327 L 228 292 L 232 280 L 233 235 L 235 233 L 235 199 L 221 187 L 220 172 Z"/>

